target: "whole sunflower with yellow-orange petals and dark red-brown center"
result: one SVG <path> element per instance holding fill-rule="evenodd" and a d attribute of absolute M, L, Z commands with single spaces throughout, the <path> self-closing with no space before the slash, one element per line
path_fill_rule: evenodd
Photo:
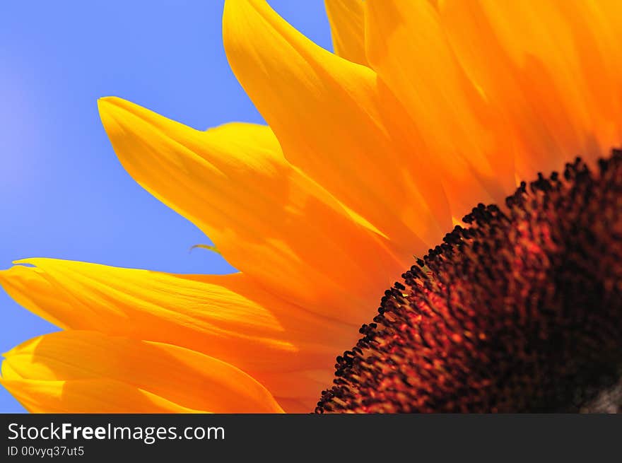
<path fill-rule="evenodd" d="M 335 53 L 265 1 L 225 2 L 230 66 L 267 126 L 197 131 L 99 100 L 124 168 L 239 273 L 17 261 L 2 286 L 63 329 L 5 355 L 1 383 L 26 409 L 522 411 L 568 409 L 577 390 L 580 406 L 613 397 L 620 2 L 326 6 Z"/>

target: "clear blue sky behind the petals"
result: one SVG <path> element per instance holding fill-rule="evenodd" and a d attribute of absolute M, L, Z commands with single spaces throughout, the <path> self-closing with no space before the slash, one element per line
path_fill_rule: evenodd
<path fill-rule="evenodd" d="M 196 129 L 262 122 L 225 59 L 223 0 L 0 4 L 0 268 L 58 257 L 228 273 L 209 240 L 119 164 L 96 100 L 117 95 Z M 331 49 L 322 0 L 269 0 Z M 0 290 L 0 351 L 56 328 Z M 0 387 L 0 413 L 23 411 Z"/>

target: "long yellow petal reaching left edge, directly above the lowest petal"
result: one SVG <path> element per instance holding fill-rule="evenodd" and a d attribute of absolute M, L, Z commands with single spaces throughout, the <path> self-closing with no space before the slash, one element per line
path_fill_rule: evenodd
<path fill-rule="evenodd" d="M 18 303 L 64 329 L 174 344 L 236 365 L 278 399 L 307 399 L 329 384 L 334 358 L 358 326 L 280 300 L 243 274 L 174 275 L 58 259 L 0 271 Z M 372 310 L 370 310 L 372 312 Z M 310 382 L 320 370 L 324 385 Z"/>

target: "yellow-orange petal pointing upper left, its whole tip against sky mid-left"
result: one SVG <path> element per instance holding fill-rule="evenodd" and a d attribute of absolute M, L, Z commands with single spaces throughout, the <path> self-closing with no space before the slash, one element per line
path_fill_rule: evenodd
<path fill-rule="evenodd" d="M 204 132 L 119 98 L 99 107 L 134 179 L 272 293 L 360 324 L 361 308 L 375 306 L 404 269 L 385 238 L 283 158 L 268 127 L 228 124 Z"/>

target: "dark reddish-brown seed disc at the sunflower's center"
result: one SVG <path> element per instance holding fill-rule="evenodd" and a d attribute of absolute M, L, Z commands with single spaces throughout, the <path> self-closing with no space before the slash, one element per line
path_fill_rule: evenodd
<path fill-rule="evenodd" d="M 622 411 L 622 151 L 479 204 L 385 292 L 316 411 Z"/>

